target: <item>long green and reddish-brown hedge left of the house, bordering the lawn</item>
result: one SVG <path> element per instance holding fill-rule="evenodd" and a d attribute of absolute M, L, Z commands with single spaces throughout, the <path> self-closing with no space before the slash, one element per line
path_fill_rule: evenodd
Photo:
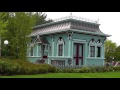
<path fill-rule="evenodd" d="M 56 68 L 48 64 L 33 64 L 25 60 L 0 59 L 0 75 L 28 75 L 49 72 L 56 72 Z"/>

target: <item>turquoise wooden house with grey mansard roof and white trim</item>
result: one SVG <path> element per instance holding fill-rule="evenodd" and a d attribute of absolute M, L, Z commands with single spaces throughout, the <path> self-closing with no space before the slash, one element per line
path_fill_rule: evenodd
<path fill-rule="evenodd" d="M 35 26 L 29 35 L 28 60 L 65 66 L 104 66 L 104 42 L 110 35 L 98 21 L 68 16 Z"/>

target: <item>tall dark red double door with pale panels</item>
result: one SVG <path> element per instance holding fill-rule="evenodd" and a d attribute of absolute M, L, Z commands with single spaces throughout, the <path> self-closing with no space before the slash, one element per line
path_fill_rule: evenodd
<path fill-rule="evenodd" d="M 83 44 L 74 43 L 75 65 L 83 65 Z"/>

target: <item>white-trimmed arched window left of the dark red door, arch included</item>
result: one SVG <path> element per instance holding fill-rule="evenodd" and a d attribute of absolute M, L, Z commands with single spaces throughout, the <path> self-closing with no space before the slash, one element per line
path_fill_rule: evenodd
<path fill-rule="evenodd" d="M 57 52 L 58 52 L 58 56 L 64 56 L 64 40 L 62 39 L 62 37 L 59 37 L 58 41 L 57 41 Z"/>

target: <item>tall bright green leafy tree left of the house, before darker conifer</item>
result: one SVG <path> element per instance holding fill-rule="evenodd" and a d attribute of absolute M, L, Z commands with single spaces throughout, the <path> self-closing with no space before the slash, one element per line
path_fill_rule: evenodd
<path fill-rule="evenodd" d="M 9 41 L 8 54 L 26 59 L 27 43 L 30 41 L 30 37 L 27 36 L 32 32 L 35 20 L 32 15 L 25 12 L 9 12 L 7 19 L 8 30 L 4 39 Z"/>

